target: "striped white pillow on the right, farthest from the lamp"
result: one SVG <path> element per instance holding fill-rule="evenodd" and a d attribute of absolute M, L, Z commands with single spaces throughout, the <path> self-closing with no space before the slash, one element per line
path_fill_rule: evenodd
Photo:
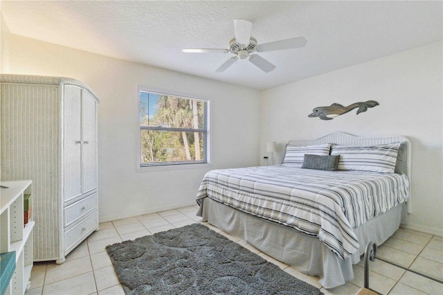
<path fill-rule="evenodd" d="M 385 145 L 332 145 L 331 154 L 340 155 L 338 170 L 394 173 L 400 143 Z"/>

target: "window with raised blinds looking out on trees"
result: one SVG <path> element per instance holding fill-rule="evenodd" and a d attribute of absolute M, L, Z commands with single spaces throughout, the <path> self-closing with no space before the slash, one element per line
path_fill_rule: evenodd
<path fill-rule="evenodd" d="M 208 163 L 206 100 L 140 90 L 140 166 Z"/>

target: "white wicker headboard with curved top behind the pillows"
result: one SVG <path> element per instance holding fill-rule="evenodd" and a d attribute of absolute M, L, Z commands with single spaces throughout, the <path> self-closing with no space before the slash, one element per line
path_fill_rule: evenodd
<path fill-rule="evenodd" d="M 385 143 L 397 143 L 397 142 L 406 142 L 405 147 L 405 155 L 404 157 L 404 167 L 405 174 L 409 179 L 409 199 L 406 204 L 408 208 L 408 213 L 411 212 L 411 202 L 410 202 L 410 183 L 411 183 L 411 175 L 410 175 L 410 161 L 411 161 L 411 145 L 408 138 L 400 135 L 392 135 L 392 136 L 354 136 L 351 134 L 343 133 L 343 132 L 334 132 L 331 134 L 327 134 L 323 137 L 309 140 L 293 140 L 289 141 L 290 145 L 303 146 L 303 145 L 318 145 L 322 143 L 336 143 L 338 145 L 380 145 Z"/>

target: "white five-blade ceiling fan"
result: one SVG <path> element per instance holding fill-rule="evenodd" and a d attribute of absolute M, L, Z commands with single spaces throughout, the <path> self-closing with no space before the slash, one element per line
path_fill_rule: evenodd
<path fill-rule="evenodd" d="M 269 73 L 275 66 L 255 52 L 279 51 L 283 49 L 299 48 L 306 44 L 305 37 L 284 39 L 265 44 L 257 44 L 257 40 L 251 36 L 252 23 L 244 19 L 234 19 L 235 38 L 231 39 L 227 49 L 201 48 L 183 49 L 185 53 L 233 53 L 224 64 L 221 64 L 216 73 L 221 73 L 233 65 L 236 60 L 248 60 L 262 71 Z"/>

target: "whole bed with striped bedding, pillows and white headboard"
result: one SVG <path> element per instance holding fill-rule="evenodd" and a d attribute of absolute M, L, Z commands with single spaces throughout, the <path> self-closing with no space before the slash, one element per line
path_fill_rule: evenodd
<path fill-rule="evenodd" d="M 208 172 L 197 215 L 333 288 L 406 221 L 409 179 L 408 138 L 336 132 L 289 141 L 280 165 Z"/>

